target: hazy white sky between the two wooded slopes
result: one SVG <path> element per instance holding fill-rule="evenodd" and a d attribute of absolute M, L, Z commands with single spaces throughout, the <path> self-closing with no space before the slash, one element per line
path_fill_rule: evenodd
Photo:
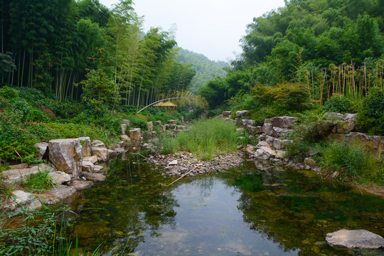
<path fill-rule="evenodd" d="M 111 8 L 118 0 L 99 0 Z M 144 30 L 169 31 L 176 23 L 178 46 L 210 60 L 232 60 L 241 53 L 239 41 L 254 17 L 284 6 L 284 0 L 134 0 L 144 16 Z"/>

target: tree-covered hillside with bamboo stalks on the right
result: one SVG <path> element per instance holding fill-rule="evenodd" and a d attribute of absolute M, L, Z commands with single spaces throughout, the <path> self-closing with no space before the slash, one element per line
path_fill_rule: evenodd
<path fill-rule="evenodd" d="M 334 94 L 361 99 L 383 85 L 383 14 L 383 0 L 286 1 L 247 25 L 242 53 L 226 78 L 200 93 L 215 106 L 255 85 L 268 85 L 267 92 L 293 82 L 320 103 Z"/>

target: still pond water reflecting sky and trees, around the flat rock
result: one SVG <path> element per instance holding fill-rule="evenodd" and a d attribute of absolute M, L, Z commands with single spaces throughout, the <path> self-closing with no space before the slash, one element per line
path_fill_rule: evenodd
<path fill-rule="evenodd" d="M 326 233 L 384 235 L 383 198 L 310 171 L 260 171 L 250 161 L 161 186 L 171 181 L 142 156 L 111 161 L 107 180 L 73 201 L 79 247 L 111 256 L 366 255 L 334 250 Z"/>

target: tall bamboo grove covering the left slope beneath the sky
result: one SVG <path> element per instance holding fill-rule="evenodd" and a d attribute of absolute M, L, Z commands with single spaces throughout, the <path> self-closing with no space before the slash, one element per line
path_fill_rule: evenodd
<path fill-rule="evenodd" d="M 1 3 L 3 85 L 37 88 L 60 102 L 90 102 L 98 86 L 105 103 L 147 105 L 186 90 L 195 74 L 177 62 L 167 31 L 143 31 L 131 0 L 112 10 L 98 0 Z"/>

